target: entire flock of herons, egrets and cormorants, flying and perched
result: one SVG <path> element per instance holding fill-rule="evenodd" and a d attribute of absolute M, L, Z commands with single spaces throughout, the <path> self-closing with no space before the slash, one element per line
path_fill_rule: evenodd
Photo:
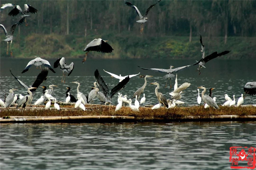
<path fill-rule="evenodd" d="M 136 6 L 134 6 L 133 4 L 131 4 L 130 2 L 127 2 L 126 0 L 124 1 L 124 4 L 130 7 L 133 7 L 137 13 L 137 15 L 140 17 L 140 20 L 136 21 L 141 23 L 141 29 L 140 29 L 140 33 L 142 33 L 143 31 L 143 23 L 145 23 L 148 19 L 146 16 L 148 14 L 148 12 L 151 10 L 151 8 L 153 8 L 157 3 L 159 3 L 161 0 L 157 1 L 156 3 L 154 3 L 153 5 L 151 5 L 145 12 L 145 14 L 142 16 L 140 11 L 138 10 L 138 8 Z M 14 7 L 13 7 L 14 6 Z M 5 29 L 5 27 L 0 24 L 0 26 L 3 28 L 5 35 L 6 35 L 6 39 L 4 41 L 7 42 L 7 52 L 6 54 L 8 54 L 8 43 L 10 42 L 10 55 L 12 55 L 12 50 L 11 50 L 11 44 L 12 44 L 12 40 L 13 40 L 13 33 L 15 28 L 18 25 L 21 25 L 24 21 L 25 24 L 27 26 L 27 22 L 26 22 L 26 17 L 28 17 L 29 13 L 35 14 L 38 12 L 38 10 L 28 4 L 24 5 L 24 10 L 22 10 L 20 8 L 19 5 L 15 5 L 15 4 L 3 4 L 1 7 L 1 10 L 7 8 L 7 7 L 13 7 L 13 9 L 8 13 L 9 16 L 16 16 L 19 13 L 21 14 L 21 19 L 15 23 L 14 25 L 12 25 L 12 27 L 10 28 L 9 32 L 7 32 L 7 30 Z M 90 51 L 97 51 L 97 52 L 102 52 L 102 53 L 111 53 L 114 49 L 107 43 L 108 40 L 102 40 L 101 38 L 98 39 L 94 39 L 91 42 L 89 42 L 86 47 L 84 48 L 84 52 L 86 52 L 85 57 L 82 61 L 82 63 L 84 63 L 86 61 L 87 58 L 87 54 Z M 199 61 L 196 61 L 196 63 L 190 64 L 190 65 L 186 65 L 186 66 L 181 66 L 181 67 L 177 67 L 175 69 L 172 69 L 174 66 L 170 65 L 170 69 L 155 69 L 155 68 L 144 68 L 144 67 L 140 67 L 143 70 L 150 70 L 150 71 L 155 71 L 155 72 L 159 72 L 159 73 L 165 73 L 164 78 L 168 80 L 170 80 L 170 89 L 172 88 L 171 85 L 171 78 L 175 77 L 175 73 L 176 73 L 176 80 L 175 80 L 175 85 L 174 85 L 174 90 L 172 92 L 169 93 L 170 97 L 169 99 L 165 98 L 164 94 L 159 92 L 159 90 L 161 90 L 161 87 L 159 85 L 159 82 L 154 82 L 154 83 L 149 83 L 151 85 L 155 85 L 155 95 L 156 98 L 158 99 L 158 104 L 156 104 L 155 106 L 152 107 L 152 109 L 158 109 L 160 108 L 162 105 L 167 108 L 167 109 L 171 109 L 174 108 L 176 105 L 180 105 L 180 104 L 184 104 L 184 102 L 180 101 L 180 99 L 182 98 L 182 93 L 184 93 L 184 90 L 187 89 L 191 84 L 188 82 L 185 82 L 183 84 L 181 84 L 178 87 L 178 83 L 177 83 L 177 72 L 188 69 L 189 67 L 193 66 L 193 65 L 199 65 L 199 68 L 197 69 L 197 71 L 199 71 L 199 75 L 201 74 L 201 68 L 205 67 L 205 64 L 214 59 L 217 58 L 219 56 L 222 55 L 226 55 L 228 54 L 230 51 L 226 50 L 223 51 L 221 53 L 218 52 L 213 52 L 210 55 L 207 55 L 205 57 L 205 45 L 202 42 L 202 36 L 200 34 L 200 44 L 201 44 L 201 59 Z M 41 68 L 41 65 L 44 65 L 45 68 Z M 2 107 L 6 107 L 8 108 L 9 106 L 12 106 L 16 103 L 17 100 L 18 104 L 16 106 L 16 108 L 22 107 L 25 109 L 26 106 L 29 105 L 29 103 L 31 104 L 31 101 L 33 99 L 33 96 L 36 93 L 36 90 L 38 89 L 38 87 L 40 86 L 40 84 L 45 81 L 47 79 L 47 75 L 48 75 L 48 70 L 51 70 L 53 73 L 55 73 L 54 69 L 59 67 L 60 70 L 62 70 L 63 74 L 62 74 L 62 79 L 61 79 L 61 83 L 65 83 L 66 81 L 66 73 L 68 73 L 68 76 L 72 73 L 73 69 L 74 69 L 74 63 L 71 62 L 69 65 L 67 65 L 67 63 L 65 62 L 65 58 L 59 58 L 54 62 L 54 67 L 52 68 L 50 63 L 47 60 L 44 60 L 42 58 L 40 58 L 40 56 L 36 57 L 35 59 L 31 60 L 28 62 L 28 64 L 26 65 L 25 69 L 22 71 L 22 73 L 25 73 L 29 70 L 29 68 L 35 65 L 37 66 L 36 68 L 38 69 L 38 66 L 41 69 L 41 72 L 38 74 L 36 80 L 34 81 L 33 85 L 31 86 L 27 86 L 25 85 L 21 80 L 19 80 L 16 76 L 13 75 L 12 71 L 10 70 L 10 73 L 13 75 L 13 77 L 18 81 L 18 83 L 26 89 L 27 94 L 26 95 L 22 95 L 22 94 L 14 94 L 14 91 L 17 89 L 14 88 L 10 88 L 9 89 L 9 94 L 8 96 L 5 98 L 5 102 L 3 102 L 3 100 L 0 99 L 0 105 Z M 125 94 L 123 96 L 123 94 L 119 93 L 120 90 L 122 90 L 126 84 L 129 82 L 131 77 L 137 76 L 138 74 L 133 74 L 133 75 L 126 75 L 126 76 L 121 76 L 121 74 L 118 76 L 114 73 L 110 73 L 107 72 L 105 70 L 103 70 L 104 72 L 110 74 L 111 76 L 113 76 L 114 78 L 117 78 L 119 80 L 119 83 L 114 86 L 111 90 L 108 87 L 108 84 L 105 83 L 105 81 L 103 80 L 103 78 L 101 77 L 99 70 L 96 69 L 94 72 L 94 76 L 95 76 L 95 81 L 93 82 L 93 86 L 91 87 L 91 90 L 89 92 L 88 95 L 84 95 L 82 92 L 79 91 L 79 87 L 80 87 L 80 82 L 76 81 L 76 82 L 72 82 L 77 84 L 77 93 L 76 93 L 76 97 L 74 97 L 70 90 L 70 87 L 66 87 L 68 90 L 66 91 L 65 95 L 66 95 L 66 100 L 63 103 L 69 104 L 70 102 L 75 103 L 74 107 L 77 109 L 82 109 L 82 110 L 86 110 L 86 104 L 91 103 L 94 104 L 93 100 L 95 100 L 95 98 L 97 97 L 102 105 L 103 104 L 109 104 L 111 105 L 111 103 L 113 103 L 112 99 L 114 98 L 114 95 L 116 93 L 118 93 L 118 97 L 117 97 L 117 101 L 118 101 L 118 105 L 116 105 L 115 107 L 115 111 L 120 110 L 122 107 L 126 107 L 126 105 L 128 104 L 131 108 L 132 111 L 140 111 L 140 107 L 145 107 L 143 104 L 145 104 L 146 102 L 146 97 L 145 97 L 145 93 L 144 93 L 144 89 L 147 85 L 147 80 L 146 78 L 151 78 L 153 76 L 150 75 L 145 75 L 144 76 L 144 84 L 143 86 L 141 86 L 140 88 L 138 88 L 134 94 L 132 95 L 132 97 L 130 99 L 127 99 L 127 95 Z M 63 80 L 63 76 L 64 76 L 64 80 Z M 165 87 L 167 86 L 167 82 Z M 39 106 L 40 104 L 45 104 L 45 109 L 49 109 L 51 106 L 51 101 L 54 101 L 54 108 L 57 110 L 60 110 L 59 105 L 56 103 L 57 99 L 54 96 L 54 89 L 53 87 L 58 87 L 57 85 L 54 84 L 50 84 L 49 88 L 47 89 L 46 86 L 40 86 L 43 88 L 42 90 L 42 95 L 41 97 L 34 103 L 34 105 Z M 203 89 L 203 91 L 201 92 L 201 96 L 200 96 L 200 90 L 199 89 Z M 205 86 L 200 86 L 198 87 L 198 97 L 197 97 L 197 104 L 200 105 L 201 101 L 203 101 L 205 103 L 204 108 L 209 108 L 212 107 L 214 109 L 219 109 L 219 106 L 216 103 L 216 97 L 212 97 L 212 90 L 215 88 L 210 88 L 209 89 L 209 95 L 205 95 L 206 92 L 206 87 Z M 249 95 L 255 95 L 256 94 L 256 82 L 248 82 L 246 83 L 246 85 L 244 86 L 244 92 L 245 94 L 249 94 Z M 140 99 L 140 96 L 143 94 L 143 97 Z M 241 97 L 238 99 L 237 101 L 237 105 L 236 106 L 241 106 L 243 104 L 243 99 L 244 99 L 244 94 L 241 94 Z M 132 105 L 132 99 L 135 98 L 134 101 L 134 105 Z M 225 94 L 225 100 L 226 102 L 222 105 L 222 106 L 235 106 L 236 104 L 236 100 L 235 100 L 235 96 L 233 95 L 233 100 L 227 95 Z M 125 106 L 123 106 L 123 104 Z M 110 109 L 110 107 L 109 107 Z"/>

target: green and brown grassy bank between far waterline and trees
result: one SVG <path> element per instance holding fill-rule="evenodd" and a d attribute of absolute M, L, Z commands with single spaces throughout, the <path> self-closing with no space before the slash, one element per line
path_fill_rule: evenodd
<path fill-rule="evenodd" d="M 122 34 L 108 33 L 104 35 L 90 34 L 86 37 L 81 35 L 41 35 L 29 34 L 27 36 L 15 35 L 12 43 L 13 58 L 83 58 L 85 52 L 82 50 L 94 38 L 109 40 L 113 47 L 112 53 L 102 54 L 90 52 L 88 58 L 123 59 L 123 58 L 175 58 L 175 59 L 200 59 L 201 44 L 199 36 L 188 37 L 132 35 L 131 32 Z M 4 34 L 1 34 L 4 39 Z M 214 51 L 232 50 L 223 59 L 251 59 L 256 54 L 255 37 L 228 37 L 227 44 L 224 44 L 223 37 L 203 37 L 205 54 L 209 55 Z M 7 43 L 1 41 L 1 58 L 10 57 L 6 55 Z M 10 49 L 9 49 L 10 50 Z"/>

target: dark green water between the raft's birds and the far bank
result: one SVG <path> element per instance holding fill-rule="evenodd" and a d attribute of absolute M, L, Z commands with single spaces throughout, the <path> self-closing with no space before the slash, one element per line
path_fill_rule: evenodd
<path fill-rule="evenodd" d="M 9 88 L 18 88 L 16 93 L 26 94 L 25 90 L 18 84 L 18 82 L 12 77 L 9 72 L 9 69 L 12 68 L 14 75 L 18 76 L 26 85 L 32 85 L 36 79 L 36 76 L 39 74 L 40 69 L 36 69 L 36 66 L 30 67 L 30 69 L 21 74 L 22 70 L 25 68 L 26 64 L 31 59 L 1 59 L 1 72 L 0 72 L 0 84 L 1 89 L 5 92 L 8 92 Z M 53 65 L 55 60 L 49 60 L 51 65 Z M 77 84 L 71 83 L 72 81 L 79 81 L 81 86 L 79 88 L 80 92 L 84 94 L 89 94 L 93 82 L 95 81 L 94 71 L 96 68 L 99 69 L 100 74 L 102 75 L 104 81 L 108 84 L 109 88 L 113 88 L 118 84 L 119 80 L 111 78 L 109 74 L 103 71 L 109 71 L 115 74 L 121 74 L 122 76 L 127 74 L 137 74 L 140 72 L 140 75 L 153 75 L 154 77 L 147 78 L 148 83 L 150 82 L 159 82 L 160 89 L 159 92 L 162 92 L 166 98 L 169 98 L 169 93 L 173 91 L 168 88 L 164 88 L 166 80 L 163 78 L 163 73 L 157 73 L 147 70 L 142 70 L 137 65 L 148 67 L 148 68 L 166 68 L 168 69 L 169 65 L 174 65 L 176 67 L 189 65 L 194 63 L 194 60 L 152 60 L 152 59 L 134 59 L 134 60 L 87 60 L 84 64 L 81 63 L 81 59 L 66 59 L 67 63 L 74 62 L 74 70 L 70 76 L 66 77 L 66 83 L 61 84 L 62 71 L 57 68 L 55 69 L 56 73 L 49 71 L 47 80 L 41 85 L 49 86 L 49 84 L 58 85 L 54 88 L 53 96 L 57 100 L 65 101 L 66 99 L 66 87 L 71 87 L 71 94 L 76 95 Z M 241 96 L 243 91 L 243 86 L 249 81 L 256 81 L 256 69 L 255 67 L 247 67 L 248 63 L 255 63 L 256 60 L 251 61 L 240 61 L 240 60 L 220 60 L 215 59 L 206 64 L 206 68 L 201 69 L 201 74 L 198 75 L 196 69 L 198 66 L 191 66 L 187 70 L 178 72 L 178 85 L 181 85 L 184 82 L 191 83 L 190 87 L 185 90 L 185 93 L 182 94 L 181 101 L 184 101 L 185 104 L 194 105 L 197 103 L 197 87 L 206 86 L 207 89 L 210 87 L 215 87 L 212 91 L 213 96 L 217 97 L 217 104 L 223 104 L 225 102 L 224 95 L 228 94 L 230 97 L 233 94 L 236 97 L 236 101 Z M 172 79 L 172 86 L 174 86 L 175 78 Z M 144 84 L 143 78 L 139 76 L 132 77 L 129 83 L 122 89 L 120 92 L 125 95 L 127 94 L 130 98 L 133 93 Z M 33 101 L 36 101 L 42 95 L 41 88 L 37 90 Z M 144 93 L 146 96 L 146 104 L 157 104 L 157 98 L 154 93 L 155 86 L 147 84 Z M 200 90 L 201 92 L 201 90 Z M 209 94 L 208 90 L 206 94 Z M 116 94 L 115 96 L 117 96 Z M 1 91 L 0 97 L 3 96 Z M 100 104 L 99 100 L 96 99 L 95 103 Z M 113 100 L 113 104 L 117 104 L 116 100 Z M 134 101 L 133 101 L 134 102 Z M 244 104 L 250 104 L 251 99 L 247 97 L 244 99 Z M 256 98 L 253 96 L 253 103 L 256 103 Z"/>

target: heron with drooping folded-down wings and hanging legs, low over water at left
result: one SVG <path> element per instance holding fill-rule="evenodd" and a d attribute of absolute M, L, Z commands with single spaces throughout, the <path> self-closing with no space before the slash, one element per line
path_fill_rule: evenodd
<path fill-rule="evenodd" d="M 66 73 L 68 73 L 68 76 L 72 73 L 74 69 L 74 63 L 71 62 L 71 64 L 67 65 L 67 63 L 65 62 L 65 58 L 62 57 L 54 62 L 53 68 L 57 68 L 58 66 L 60 66 L 60 70 L 62 70 L 63 72 L 61 83 L 62 83 L 64 72 L 65 72 L 65 77 L 64 77 L 64 83 L 65 83 Z"/>

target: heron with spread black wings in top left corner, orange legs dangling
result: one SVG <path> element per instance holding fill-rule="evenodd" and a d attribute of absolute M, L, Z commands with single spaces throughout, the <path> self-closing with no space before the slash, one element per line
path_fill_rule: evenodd
<path fill-rule="evenodd" d="M 21 14 L 21 17 L 27 17 L 27 16 L 29 16 L 29 15 L 27 15 L 28 13 L 32 13 L 32 14 L 37 13 L 37 9 L 34 8 L 34 7 L 32 7 L 32 6 L 30 6 L 30 5 L 28 5 L 28 4 L 24 4 L 24 10 L 22 10 L 19 5 L 16 5 L 16 6 L 8 13 L 8 15 L 14 17 L 14 16 L 18 15 L 19 13 Z M 28 25 L 27 25 L 26 18 L 25 18 L 25 25 L 28 26 Z"/>

